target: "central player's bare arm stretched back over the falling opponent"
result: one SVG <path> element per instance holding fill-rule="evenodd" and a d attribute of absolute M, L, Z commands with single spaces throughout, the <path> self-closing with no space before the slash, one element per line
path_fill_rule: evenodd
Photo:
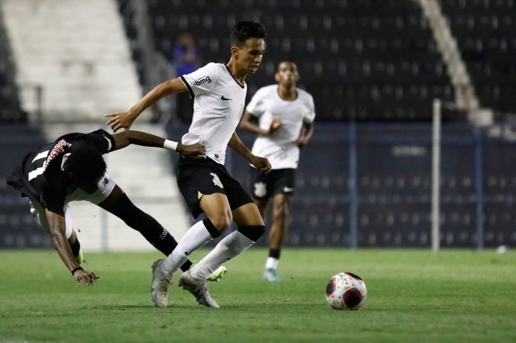
<path fill-rule="evenodd" d="M 105 117 L 111 117 L 106 122 L 106 125 L 111 125 L 111 129 L 114 132 L 117 132 L 121 128 L 128 130 L 131 128 L 131 125 L 133 125 L 133 122 L 140 113 L 154 105 L 159 99 L 167 95 L 181 92 L 186 92 L 186 85 L 179 77 L 160 83 L 141 98 L 141 100 L 138 101 L 138 103 L 130 110 L 126 112 L 104 114 Z"/>

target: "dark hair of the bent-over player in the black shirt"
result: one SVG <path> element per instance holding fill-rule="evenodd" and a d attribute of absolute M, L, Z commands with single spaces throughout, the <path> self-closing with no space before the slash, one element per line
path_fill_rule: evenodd
<path fill-rule="evenodd" d="M 106 162 L 98 150 L 83 147 L 70 154 L 65 168 L 75 180 L 93 181 L 106 173 Z"/>

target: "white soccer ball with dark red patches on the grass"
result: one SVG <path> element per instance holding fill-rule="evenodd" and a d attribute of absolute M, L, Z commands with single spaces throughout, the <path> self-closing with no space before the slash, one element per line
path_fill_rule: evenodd
<path fill-rule="evenodd" d="M 334 275 L 326 286 L 326 300 L 333 310 L 358 310 L 366 297 L 364 280 L 347 271 Z"/>

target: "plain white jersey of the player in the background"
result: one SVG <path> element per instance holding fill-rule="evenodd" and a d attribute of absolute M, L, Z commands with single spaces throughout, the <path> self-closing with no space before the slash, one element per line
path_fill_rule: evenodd
<path fill-rule="evenodd" d="M 259 118 L 260 128 L 268 130 L 272 118 L 280 118 L 282 125 L 269 135 L 259 135 L 254 141 L 252 153 L 269 159 L 272 169 L 297 168 L 299 148 L 296 140 L 303 122 L 312 123 L 315 118 L 314 100 L 302 89 L 296 88 L 297 98 L 285 100 L 278 94 L 278 85 L 260 88 L 247 105 L 247 112 Z"/>

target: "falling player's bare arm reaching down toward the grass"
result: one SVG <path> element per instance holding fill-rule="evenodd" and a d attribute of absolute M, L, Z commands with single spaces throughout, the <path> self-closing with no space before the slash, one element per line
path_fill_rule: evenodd
<path fill-rule="evenodd" d="M 45 214 L 46 219 L 49 222 L 52 244 L 65 266 L 67 266 L 68 270 L 72 273 L 75 283 L 79 286 L 79 281 L 84 280 L 87 285 L 92 285 L 93 281 L 96 281 L 99 277 L 96 276 L 94 272 L 84 270 L 80 267 L 73 257 L 72 248 L 70 248 L 70 244 L 68 243 L 68 239 L 65 234 L 65 217 L 49 210 L 45 210 Z"/>

